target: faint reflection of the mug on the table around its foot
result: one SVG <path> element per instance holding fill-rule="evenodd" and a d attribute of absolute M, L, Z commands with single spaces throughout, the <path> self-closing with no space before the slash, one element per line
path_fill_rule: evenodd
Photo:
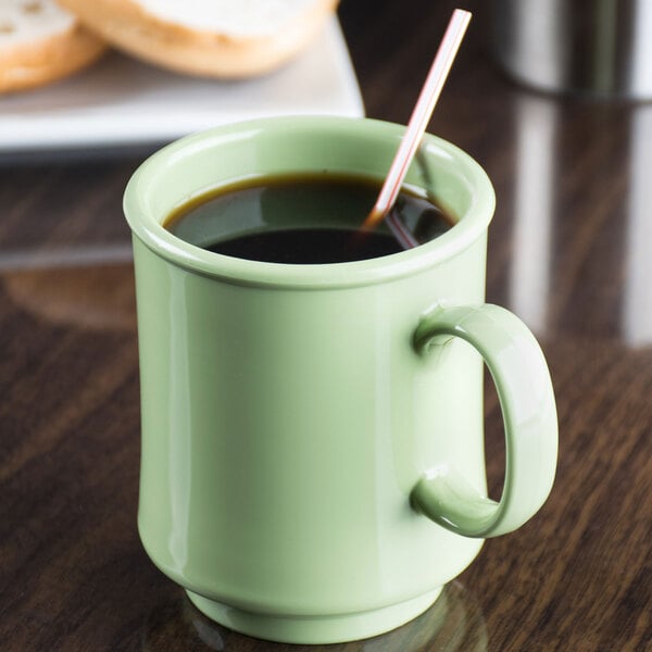
<path fill-rule="evenodd" d="M 237 634 L 213 623 L 184 595 L 154 610 L 142 635 L 142 650 L 188 652 L 486 652 L 482 612 L 459 582 L 446 586 L 435 604 L 406 625 L 374 638 L 341 644 L 287 645 Z"/>

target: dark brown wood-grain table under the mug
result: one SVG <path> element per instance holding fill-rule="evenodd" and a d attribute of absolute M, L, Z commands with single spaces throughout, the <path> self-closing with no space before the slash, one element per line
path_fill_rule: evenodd
<path fill-rule="evenodd" d="M 466 3 L 476 16 L 429 130 L 494 181 L 488 298 L 519 314 L 548 356 L 557 479 L 542 511 L 488 541 L 426 614 L 327 649 L 652 650 L 652 104 L 514 86 L 492 63 L 486 4 Z M 343 1 L 369 116 L 408 120 L 452 8 Z M 138 540 L 121 193 L 141 158 L 0 167 L 0 648 L 299 650 L 211 624 Z M 489 388 L 493 493 L 501 440 Z"/>

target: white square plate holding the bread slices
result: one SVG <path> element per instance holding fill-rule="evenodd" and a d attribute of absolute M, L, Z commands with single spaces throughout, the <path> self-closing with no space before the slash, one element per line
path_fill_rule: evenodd
<path fill-rule="evenodd" d="M 160 143 L 218 124 L 288 114 L 364 114 L 335 17 L 308 51 L 265 77 L 186 77 L 111 52 L 70 79 L 0 97 L 0 154 Z"/>

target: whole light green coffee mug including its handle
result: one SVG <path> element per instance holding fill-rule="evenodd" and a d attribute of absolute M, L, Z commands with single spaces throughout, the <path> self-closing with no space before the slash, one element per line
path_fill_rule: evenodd
<path fill-rule="evenodd" d="M 406 183 L 434 189 L 459 222 L 392 255 L 262 263 L 162 226 L 188 199 L 247 177 L 381 179 L 403 130 L 340 117 L 222 126 L 165 147 L 126 189 L 140 537 L 199 610 L 251 636 L 329 643 L 398 627 L 552 486 L 550 375 L 526 326 L 484 302 L 494 196 L 456 147 L 426 136 Z M 498 502 L 482 360 L 505 429 Z"/>

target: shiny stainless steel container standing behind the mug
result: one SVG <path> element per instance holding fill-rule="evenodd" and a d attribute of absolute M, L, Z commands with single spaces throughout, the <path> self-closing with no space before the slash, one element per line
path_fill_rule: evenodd
<path fill-rule="evenodd" d="M 493 48 L 553 92 L 652 99 L 652 0 L 493 0 Z"/>

